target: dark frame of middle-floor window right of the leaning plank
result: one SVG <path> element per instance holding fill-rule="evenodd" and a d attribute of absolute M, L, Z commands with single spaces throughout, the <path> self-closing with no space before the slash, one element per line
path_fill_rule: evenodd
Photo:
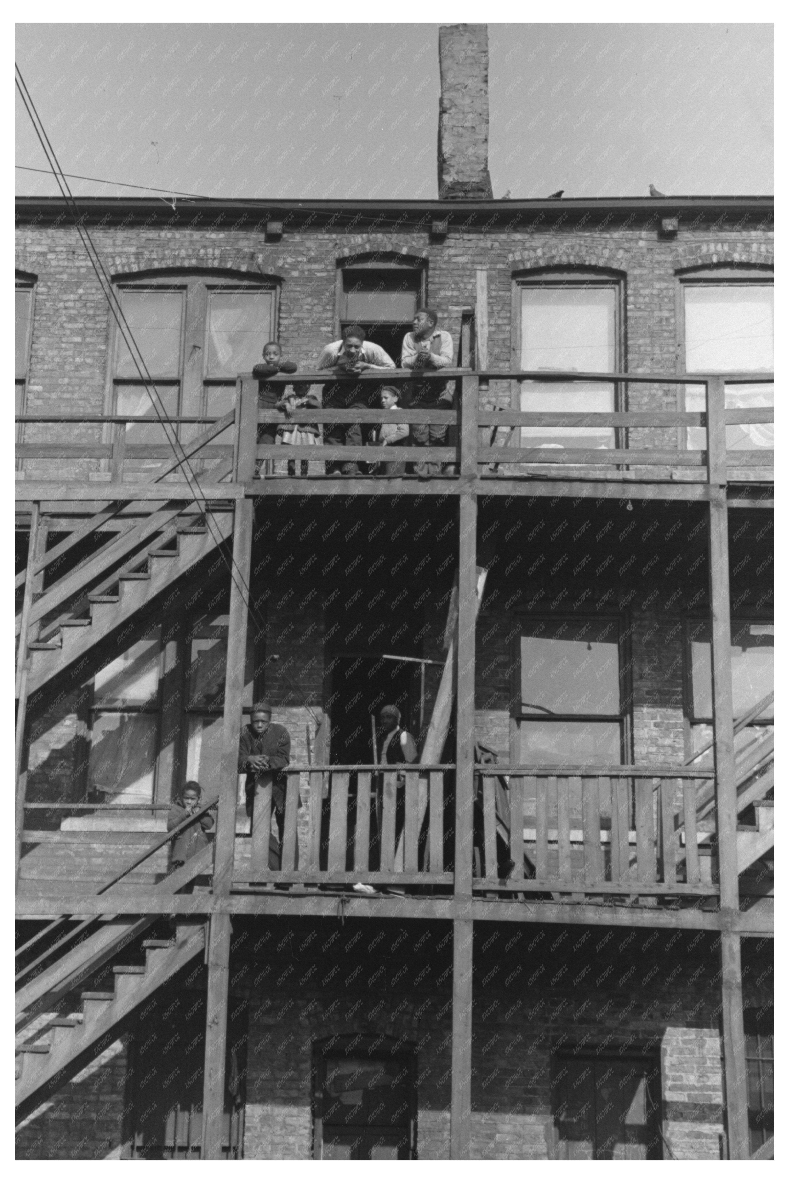
<path fill-rule="evenodd" d="M 520 767 L 520 724 L 526 720 L 554 719 L 557 723 L 618 723 L 620 724 L 620 761 L 621 767 L 627 768 L 633 763 L 633 661 L 631 661 L 631 629 L 627 627 L 627 619 L 622 613 L 609 613 L 592 615 L 589 613 L 573 615 L 567 613 L 532 613 L 519 612 L 517 615 L 518 629 L 513 631 L 509 651 L 509 763 L 511 767 Z M 620 666 L 620 713 L 618 715 L 551 715 L 544 712 L 522 712 L 521 707 L 521 636 L 522 626 L 526 621 L 538 623 L 545 621 L 547 625 L 558 625 L 560 621 L 572 621 L 578 625 L 591 621 L 602 625 L 612 621 L 617 629 L 617 651 Z M 550 771 L 552 765 L 546 764 L 545 770 Z M 558 765 L 554 765 L 558 767 Z"/>

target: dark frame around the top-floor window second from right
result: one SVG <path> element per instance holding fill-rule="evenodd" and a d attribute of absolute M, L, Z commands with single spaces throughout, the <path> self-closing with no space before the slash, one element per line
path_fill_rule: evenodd
<path fill-rule="evenodd" d="M 550 266 L 514 271 L 512 276 L 512 347 L 511 369 L 518 373 L 521 368 L 520 353 L 522 344 L 521 291 L 524 287 L 607 287 L 614 290 L 614 370 L 623 374 L 627 369 L 627 276 L 608 267 Z M 612 382 L 614 411 L 627 411 L 627 384 Z M 521 383 L 513 379 L 509 389 L 511 406 L 520 408 Z M 614 447 L 628 447 L 627 428 L 614 428 Z"/>

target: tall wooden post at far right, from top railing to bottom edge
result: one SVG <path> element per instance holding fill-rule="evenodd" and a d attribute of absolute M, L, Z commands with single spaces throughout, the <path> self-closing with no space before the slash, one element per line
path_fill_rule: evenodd
<path fill-rule="evenodd" d="M 739 913 L 737 872 L 737 777 L 731 685 L 729 592 L 729 510 L 726 506 L 726 418 L 723 379 L 707 382 L 707 465 L 710 477 L 710 614 L 712 626 L 712 712 L 718 821 L 720 910 Z M 726 1126 L 730 1158 L 749 1157 L 745 1032 L 739 937 L 721 933 L 721 994 Z"/>

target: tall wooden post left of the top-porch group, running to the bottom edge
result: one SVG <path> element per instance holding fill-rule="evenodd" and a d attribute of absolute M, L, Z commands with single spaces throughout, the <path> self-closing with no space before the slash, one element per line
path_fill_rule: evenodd
<path fill-rule="evenodd" d="M 240 382 L 236 435 L 236 477 L 239 483 L 255 476 L 257 447 L 257 383 Z M 219 764 L 219 807 L 213 856 L 213 892 L 229 896 L 233 878 L 236 847 L 236 802 L 238 799 L 238 737 L 242 725 L 246 628 L 249 622 L 249 577 L 252 554 L 254 505 L 249 498 L 236 502 L 233 558 L 230 578 L 227 661 L 225 666 L 225 707 Z M 203 1158 L 222 1156 L 225 1105 L 225 1043 L 227 1037 L 227 985 L 230 978 L 229 914 L 213 914 L 209 929 L 209 997 L 203 1074 Z"/>

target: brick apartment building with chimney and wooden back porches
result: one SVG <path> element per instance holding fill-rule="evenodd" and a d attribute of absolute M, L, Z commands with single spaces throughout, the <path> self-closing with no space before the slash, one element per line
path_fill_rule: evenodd
<path fill-rule="evenodd" d="M 494 200 L 440 52 L 438 201 L 18 201 L 18 1157 L 771 1156 L 772 203 Z M 424 305 L 441 477 L 256 444 Z"/>

